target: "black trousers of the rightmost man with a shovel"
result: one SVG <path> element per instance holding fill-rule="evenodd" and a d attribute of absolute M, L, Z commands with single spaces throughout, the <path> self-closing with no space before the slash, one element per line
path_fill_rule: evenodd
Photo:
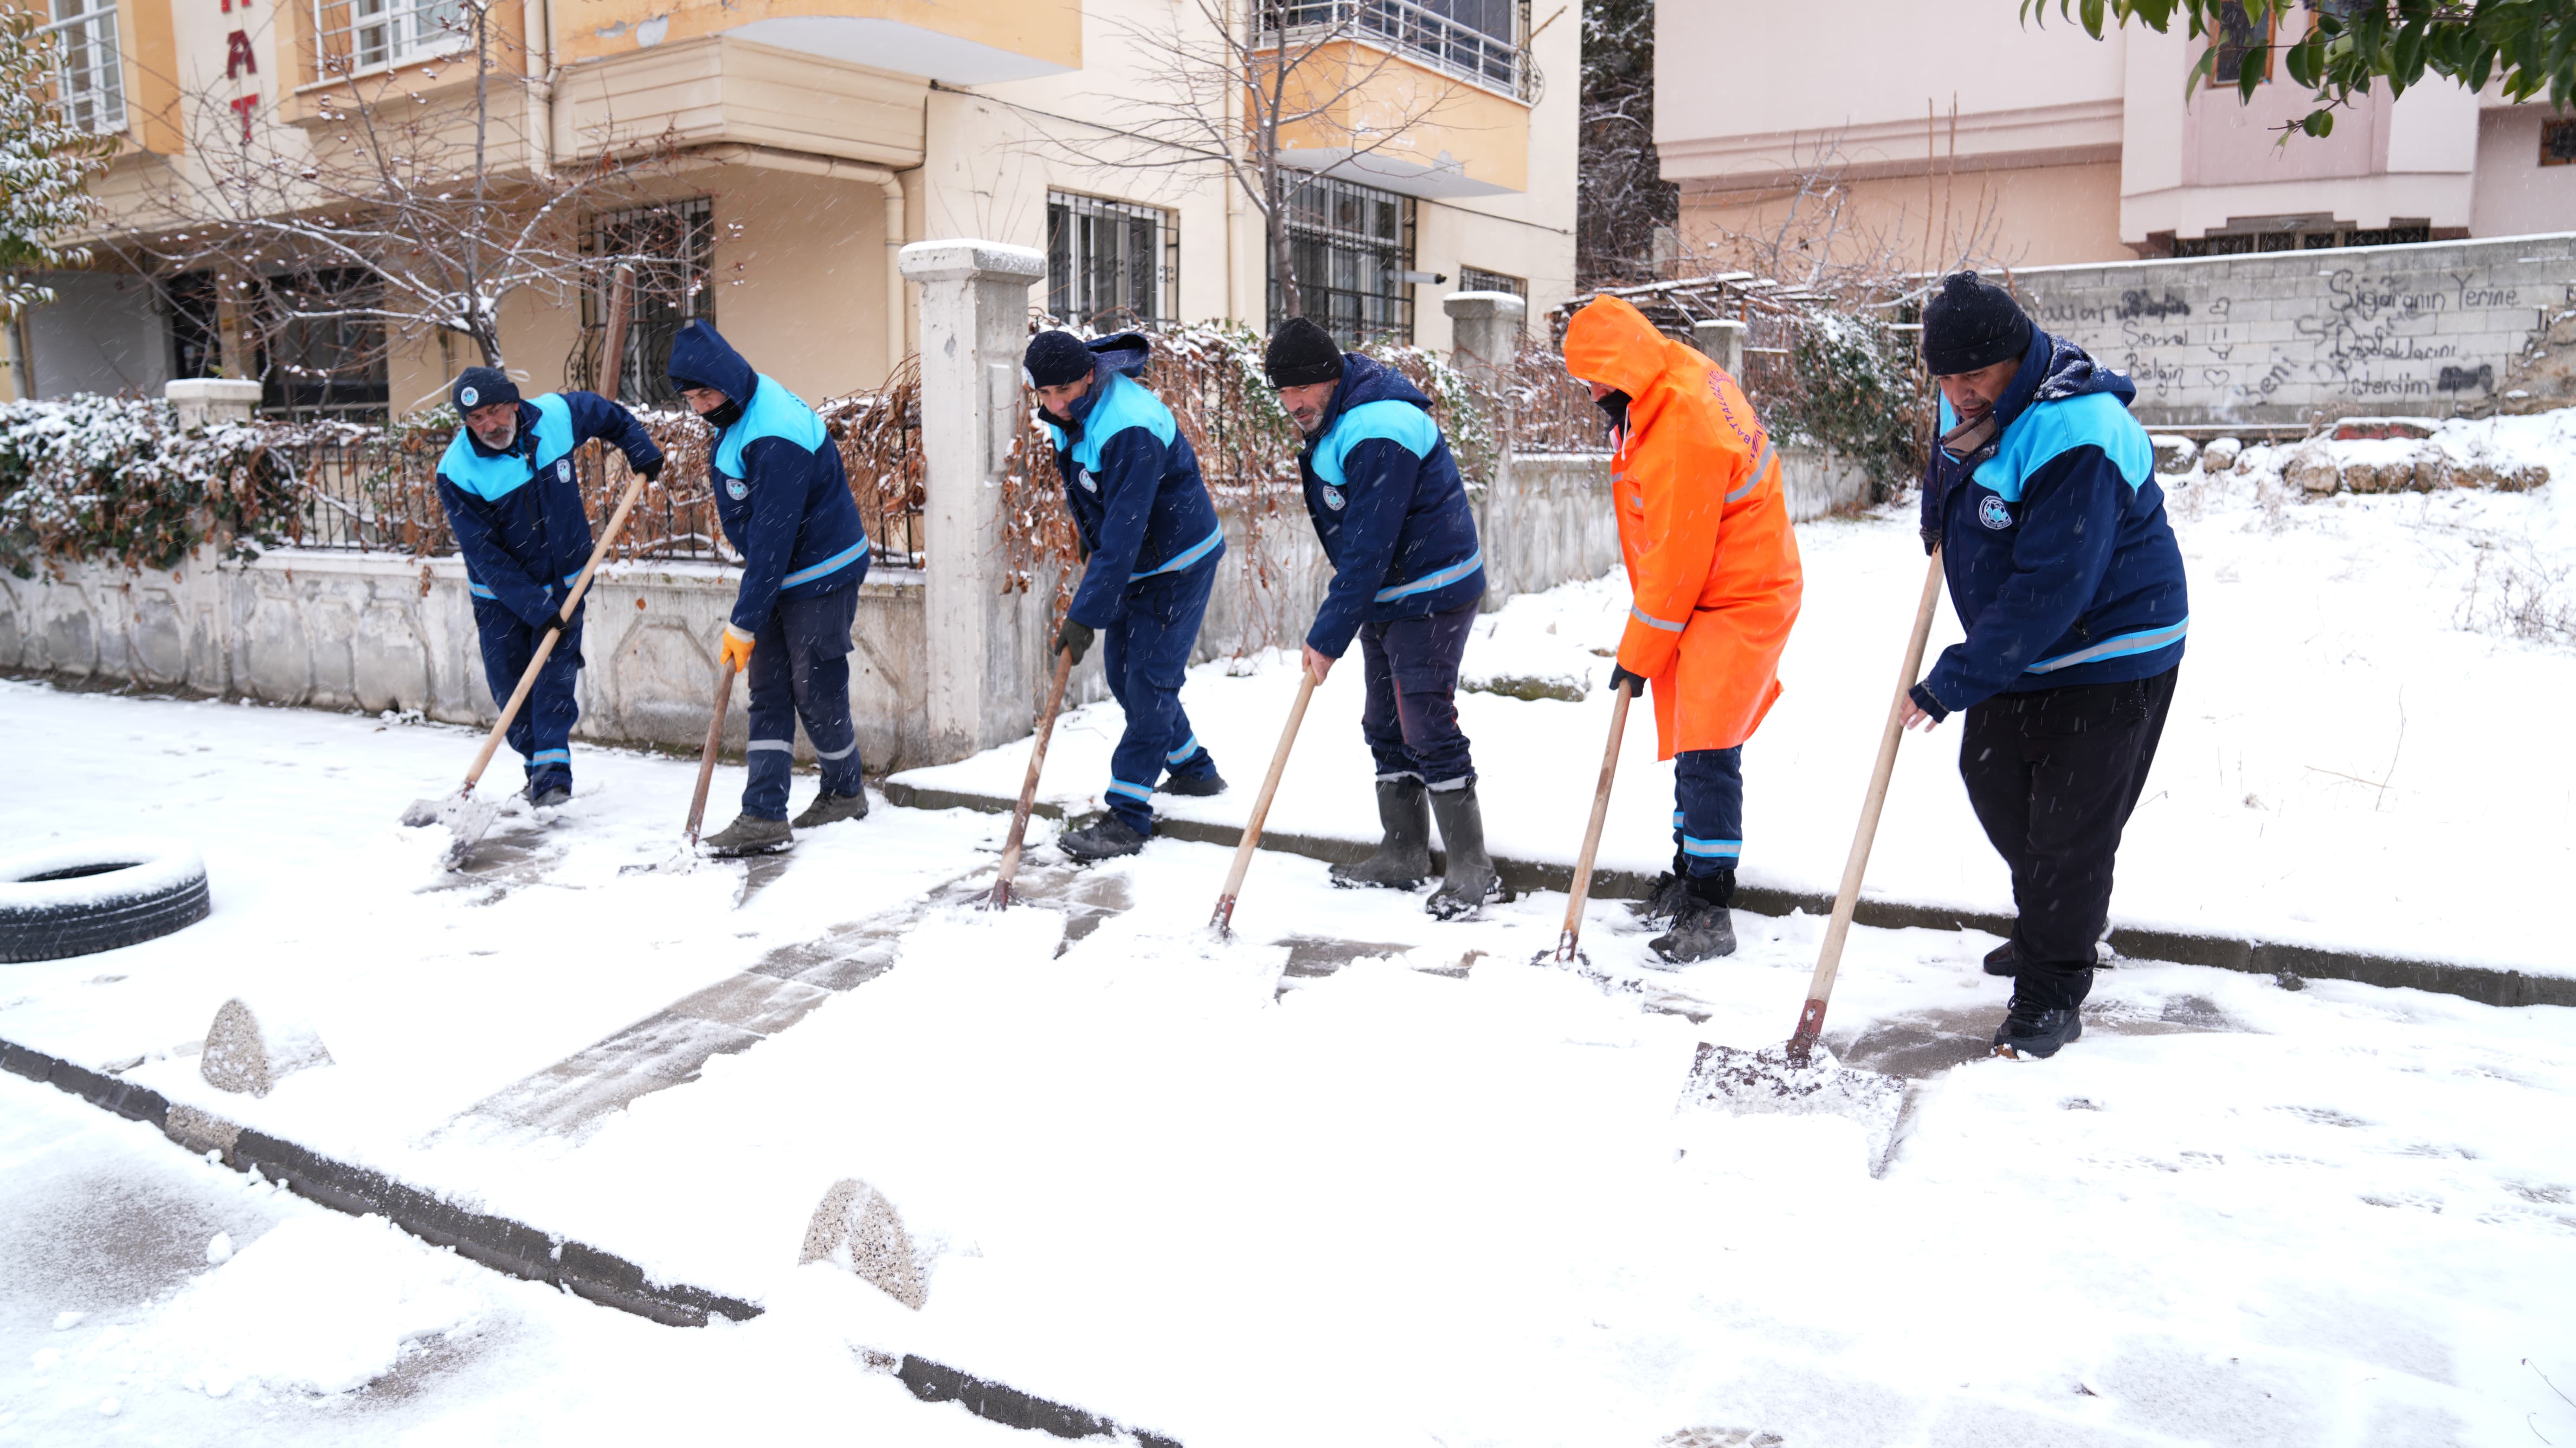
<path fill-rule="evenodd" d="M 2071 1010 L 2092 992 L 2112 855 L 2156 763 L 2179 672 L 1996 693 L 1968 709 L 1958 773 L 2012 868 L 2014 995 L 2025 1000 Z"/>

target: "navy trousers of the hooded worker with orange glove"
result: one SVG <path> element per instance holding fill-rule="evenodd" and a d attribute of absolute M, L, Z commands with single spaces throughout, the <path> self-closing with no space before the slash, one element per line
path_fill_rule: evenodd
<path fill-rule="evenodd" d="M 868 577 L 868 559 L 855 564 Z M 824 794 L 860 794 L 858 724 L 850 721 L 850 624 L 858 618 L 858 580 L 822 598 L 781 598 L 752 634 L 752 778 L 742 786 L 742 812 L 760 819 L 788 817 L 788 765 L 796 763 L 796 721 L 804 719 Z"/>

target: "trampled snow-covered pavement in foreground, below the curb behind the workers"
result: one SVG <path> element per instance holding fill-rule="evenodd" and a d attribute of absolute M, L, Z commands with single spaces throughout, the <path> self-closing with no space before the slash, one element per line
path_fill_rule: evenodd
<path fill-rule="evenodd" d="M 1329 737 L 1321 711 L 1314 727 Z M 250 1440 L 270 1412 L 345 1438 L 595 1440 L 585 1404 L 636 1440 L 698 1440 L 768 1422 L 729 1409 L 770 1396 L 781 1415 L 858 1402 L 860 1433 L 871 1402 L 979 1430 L 891 1396 L 866 1353 L 1193 1448 L 1646 1448 L 1690 1425 L 1795 1448 L 2576 1433 L 2537 1376 L 2576 1378 L 2571 1010 L 2130 961 L 2084 1041 L 1991 1062 L 1991 938 L 1857 930 L 1829 1041 L 1919 1082 L 1873 1177 L 1850 1123 L 1674 1110 L 1700 1038 L 1788 1031 L 1811 917 L 1744 917 L 1739 958 L 1651 974 L 1643 933 L 1602 904 L 1595 971 L 1574 974 L 1530 964 L 1561 897 L 1437 925 L 1265 855 L 1239 943 L 1216 948 L 1218 848 L 1041 863 L 1041 902 L 989 917 L 953 902 L 989 879 L 1002 819 L 891 806 L 786 861 L 621 876 L 670 853 L 690 765 L 600 750 L 577 750 L 572 809 L 505 819 L 459 879 L 440 840 L 392 824 L 471 752 L 456 729 L 0 683 L 0 747 L 46 763 L 0 796 L 0 835 L 193 837 L 214 889 L 214 915 L 165 940 L 0 966 L 0 1038 L 762 1309 L 657 1329 L 255 1193 L 201 1224 L 234 1237 L 234 1265 L 268 1265 L 216 1268 L 234 1286 L 204 1288 L 196 1317 L 196 1226 L 131 1286 L 23 1270 L 15 1242 L 70 1229 L 21 1232 L 0 1237 L 0 1348 L 44 1384 L 0 1389 L 23 1415 L 0 1440 L 72 1438 L 108 1394 L 157 1394 L 170 1417 L 147 1433 L 126 1404 L 82 1440 Z M 726 982 L 806 971 L 832 984 L 659 1090 L 492 1105 L 641 1020 L 708 1020 Z M 188 1051 L 229 995 L 312 1020 L 335 1064 L 263 1100 L 211 1090 Z M 160 1190 L 162 1162 L 191 1175 L 162 1196 L 242 1190 L 72 1098 L 0 1090 L 10 1129 L 39 1123 L 0 1139 L 0 1183 L 28 1193 L 0 1211 L 41 1196 L 13 1216 L 62 1221 Z M 57 1152 L 64 1110 L 121 1147 Z M 902 1211 L 920 1311 L 796 1262 L 845 1177 Z M 204 1322 L 263 1293 L 325 1324 L 371 1314 L 332 1358 L 353 1366 L 260 1337 L 219 1363 Z M 39 1360 L 62 1311 L 131 1337 L 75 1327 Z M 495 1327 L 448 1353 L 466 1319 Z M 582 1337 L 592 1319 L 649 1345 Z M 425 1348 L 392 1355 L 381 1399 L 474 1404 L 453 1430 L 430 1407 L 368 1417 L 392 1412 L 379 1389 L 325 1391 L 404 1337 Z M 222 1399 L 209 1366 L 237 1373 Z M 477 1402 L 513 1373 L 577 1386 Z M 909 1417 L 881 1433 L 935 1440 Z"/>

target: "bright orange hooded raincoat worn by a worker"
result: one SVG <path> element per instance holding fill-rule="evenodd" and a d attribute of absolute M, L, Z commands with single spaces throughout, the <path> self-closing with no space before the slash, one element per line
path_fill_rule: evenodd
<path fill-rule="evenodd" d="M 1636 605 L 1618 662 L 1654 683 L 1662 757 L 1731 750 L 1780 698 L 1803 590 L 1780 453 L 1736 379 L 1618 296 L 1566 325 L 1566 371 L 1628 394 L 1610 492 Z"/>

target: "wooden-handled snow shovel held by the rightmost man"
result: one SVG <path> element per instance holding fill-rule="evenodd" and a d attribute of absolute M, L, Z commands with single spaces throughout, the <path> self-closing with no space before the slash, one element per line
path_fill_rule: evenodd
<path fill-rule="evenodd" d="M 1824 948 L 1816 956 L 1816 974 L 1806 987 L 1806 1007 L 1798 1010 L 1798 1028 L 1785 1046 L 1739 1051 L 1700 1041 L 1690 1062 L 1690 1085 L 1682 1100 L 1703 1105 L 1728 1105 L 1734 1110 L 1811 1113 L 1837 1110 L 1855 1116 L 1870 1131 L 1870 1167 L 1883 1162 L 1896 1136 L 1896 1116 L 1904 1108 L 1904 1082 L 1878 1072 L 1860 1072 L 1834 1062 L 1832 1051 L 1819 1051 L 1824 1033 L 1824 1002 L 1834 995 L 1834 971 L 1842 969 L 1842 940 L 1852 933 L 1852 910 L 1860 904 L 1860 876 L 1870 868 L 1870 843 L 1878 837 L 1878 812 L 1888 804 L 1888 778 L 1896 773 L 1896 745 L 1904 739 L 1906 691 L 1914 688 L 1924 662 L 1924 642 L 1932 636 L 1932 608 L 1940 603 L 1940 551 L 1924 572 L 1924 598 L 1914 608 L 1914 634 L 1906 639 L 1904 672 L 1896 678 L 1896 698 L 1888 701 L 1888 724 L 1878 737 L 1878 765 L 1870 770 L 1870 794 L 1860 804 L 1860 827 L 1852 832 L 1852 853 L 1842 863 L 1842 889 L 1834 891 L 1834 917 L 1824 928 Z"/>

